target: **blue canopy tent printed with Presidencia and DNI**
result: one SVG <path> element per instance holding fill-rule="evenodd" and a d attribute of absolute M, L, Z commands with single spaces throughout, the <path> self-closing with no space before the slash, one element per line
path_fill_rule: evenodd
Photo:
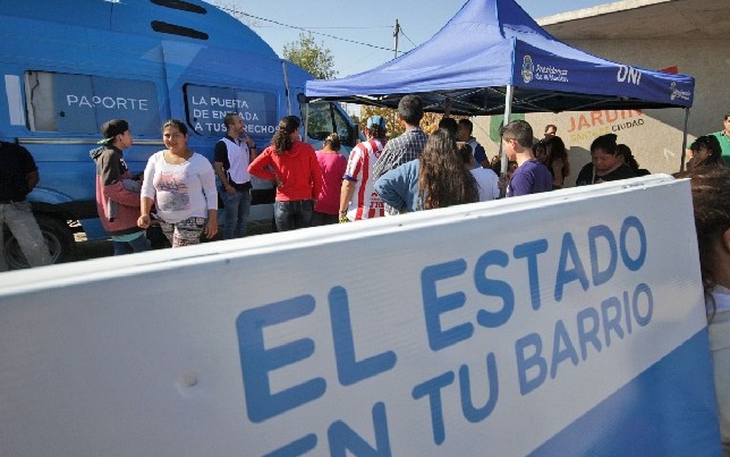
<path fill-rule="evenodd" d="M 694 78 L 566 45 L 514 0 L 469 0 L 434 37 L 399 58 L 337 80 L 308 81 L 306 88 L 310 101 L 391 108 L 407 93 L 418 94 L 426 111 L 450 106 L 457 115 L 507 119 L 512 112 L 685 108 L 684 151 Z"/>

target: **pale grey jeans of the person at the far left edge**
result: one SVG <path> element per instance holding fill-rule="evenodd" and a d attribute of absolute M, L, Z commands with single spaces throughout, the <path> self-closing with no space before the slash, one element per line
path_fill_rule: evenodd
<path fill-rule="evenodd" d="M 18 240 L 20 250 L 30 266 L 48 265 L 51 263 L 48 246 L 43 239 L 41 229 L 38 227 L 36 218 L 31 212 L 31 204 L 28 201 L 16 203 L 0 203 L 0 272 L 7 271 L 5 261 L 5 240 L 2 225 L 7 224 L 8 229 Z"/>

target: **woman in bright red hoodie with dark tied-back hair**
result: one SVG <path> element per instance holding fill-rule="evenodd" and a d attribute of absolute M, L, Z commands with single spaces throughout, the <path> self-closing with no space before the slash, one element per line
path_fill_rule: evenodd
<path fill-rule="evenodd" d="M 299 118 L 279 121 L 272 144 L 248 166 L 255 177 L 277 185 L 274 221 L 278 231 L 308 227 L 322 189 L 322 169 L 312 146 L 299 140 Z"/>

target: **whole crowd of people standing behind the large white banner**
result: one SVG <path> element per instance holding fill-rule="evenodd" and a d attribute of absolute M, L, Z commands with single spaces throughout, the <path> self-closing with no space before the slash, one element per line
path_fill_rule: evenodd
<path fill-rule="evenodd" d="M 490 161 L 472 136 L 469 120 L 442 118 L 430 135 L 420 128 L 423 105 L 404 96 L 398 107 L 404 133 L 386 140 L 385 119 L 366 120 L 365 141 L 348 158 L 336 133 L 322 150 L 301 141 L 300 120 L 283 118 L 271 144 L 258 153 L 237 113 L 226 115 L 226 137 L 215 145 L 212 163 L 188 147 L 181 120 L 162 126 L 165 149 L 153 154 L 142 175 L 133 176 L 123 151 L 131 147 L 130 126 L 114 119 L 101 128 L 104 138 L 91 151 L 96 164 L 96 202 L 114 254 L 151 248 L 145 229 L 158 223 L 172 247 L 197 244 L 218 233 L 218 196 L 226 209 L 223 238 L 243 237 L 251 204 L 251 176 L 276 187 L 277 231 L 329 223 L 350 223 L 402 212 L 512 198 L 562 188 L 572 173 L 569 153 L 557 127 L 545 127 L 534 142 L 524 120 L 502 126 L 507 173 L 498 177 L 502 155 Z M 697 138 L 689 147 L 702 281 L 707 302 L 715 385 L 723 447 L 730 452 L 730 112 L 725 129 Z M 577 174 L 577 185 L 591 185 L 648 174 L 615 134 L 591 144 L 591 162 Z M 18 239 L 31 266 L 50 264 L 47 247 L 26 201 L 39 181 L 28 151 L 0 143 L 0 223 Z M 218 182 L 216 182 L 218 177 Z M 3 245 L 0 231 L 0 247 Z M 7 269 L 0 251 L 0 271 Z"/>

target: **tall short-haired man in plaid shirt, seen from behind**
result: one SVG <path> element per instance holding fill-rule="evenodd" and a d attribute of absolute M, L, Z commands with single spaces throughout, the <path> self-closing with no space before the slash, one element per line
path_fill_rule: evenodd
<path fill-rule="evenodd" d="M 375 182 L 385 172 L 389 172 L 401 164 L 420 158 L 423 147 L 429 137 L 420 129 L 420 120 L 423 118 L 423 102 L 415 95 L 404 96 L 398 104 L 398 117 L 404 124 L 406 131 L 391 139 L 386 145 L 380 158 L 372 169 L 372 180 Z M 385 207 L 390 214 L 393 211 Z"/>

